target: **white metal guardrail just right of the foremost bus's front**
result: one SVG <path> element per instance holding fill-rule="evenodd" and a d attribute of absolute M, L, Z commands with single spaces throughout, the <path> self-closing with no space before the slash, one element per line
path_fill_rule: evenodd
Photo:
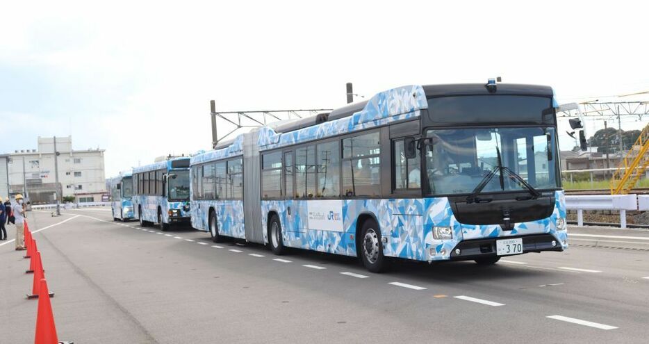
<path fill-rule="evenodd" d="M 646 198 L 649 210 L 649 197 Z M 627 227 L 627 210 L 642 210 L 638 206 L 638 195 L 566 195 L 566 209 L 577 211 L 577 225 L 584 225 L 584 210 L 620 211 L 620 227 Z"/>

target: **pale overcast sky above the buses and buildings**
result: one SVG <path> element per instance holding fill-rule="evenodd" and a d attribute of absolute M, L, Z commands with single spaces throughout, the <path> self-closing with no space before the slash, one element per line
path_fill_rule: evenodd
<path fill-rule="evenodd" d="M 71 134 L 75 149 L 106 149 L 110 177 L 209 149 L 210 99 L 223 111 L 336 108 L 347 82 L 371 97 L 502 76 L 551 85 L 561 103 L 649 90 L 643 1 L 191 3 L 3 1 L 0 152 Z M 624 117 L 623 129 L 648 120 Z"/>

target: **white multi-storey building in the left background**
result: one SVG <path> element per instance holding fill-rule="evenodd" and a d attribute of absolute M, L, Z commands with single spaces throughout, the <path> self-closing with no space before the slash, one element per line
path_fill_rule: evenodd
<path fill-rule="evenodd" d="M 74 196 L 76 202 L 100 202 L 108 193 L 104 149 L 72 149 L 72 137 L 67 136 L 56 138 L 56 150 L 58 185 L 63 197 Z M 12 195 L 26 193 L 35 204 L 54 202 L 54 138 L 39 137 L 38 149 L 10 153 L 8 167 Z"/>

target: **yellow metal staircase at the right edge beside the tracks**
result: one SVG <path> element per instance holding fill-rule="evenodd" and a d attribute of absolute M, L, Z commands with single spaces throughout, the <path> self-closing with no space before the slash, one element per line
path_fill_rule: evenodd
<path fill-rule="evenodd" d="M 611 195 L 626 195 L 649 167 L 649 125 L 645 126 L 611 178 Z"/>

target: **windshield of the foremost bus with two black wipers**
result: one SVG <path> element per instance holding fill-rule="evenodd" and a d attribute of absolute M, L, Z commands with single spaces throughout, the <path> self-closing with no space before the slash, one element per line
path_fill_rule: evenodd
<path fill-rule="evenodd" d="M 482 193 L 525 190 L 500 168 L 507 167 L 535 189 L 559 188 L 552 127 L 432 129 L 425 140 L 429 194 L 472 193 L 486 174 L 495 176 Z M 502 183 L 501 183 L 502 180 Z"/>

